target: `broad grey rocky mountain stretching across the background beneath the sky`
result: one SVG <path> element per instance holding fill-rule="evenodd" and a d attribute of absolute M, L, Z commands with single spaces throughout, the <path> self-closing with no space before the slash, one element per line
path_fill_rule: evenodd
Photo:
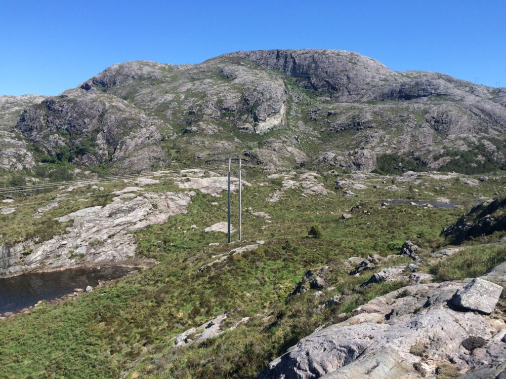
<path fill-rule="evenodd" d="M 232 156 L 265 168 L 475 173 L 503 166 L 506 89 L 346 51 L 248 51 L 121 63 L 57 97 L 2 97 L 0 125 L 9 170 L 137 172 Z"/>

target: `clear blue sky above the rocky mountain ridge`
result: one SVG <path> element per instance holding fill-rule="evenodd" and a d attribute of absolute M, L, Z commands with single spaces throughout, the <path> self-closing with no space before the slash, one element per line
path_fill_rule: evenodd
<path fill-rule="evenodd" d="M 0 0 L 0 94 L 58 94 L 124 61 L 342 49 L 506 87 L 506 1 Z"/>

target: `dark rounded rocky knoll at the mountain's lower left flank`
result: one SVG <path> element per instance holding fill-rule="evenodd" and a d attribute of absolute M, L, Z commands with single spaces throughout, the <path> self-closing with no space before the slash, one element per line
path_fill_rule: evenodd
<path fill-rule="evenodd" d="M 116 97 L 82 92 L 26 108 L 16 129 L 48 156 L 77 165 L 112 163 L 139 172 L 164 161 L 159 120 Z"/>

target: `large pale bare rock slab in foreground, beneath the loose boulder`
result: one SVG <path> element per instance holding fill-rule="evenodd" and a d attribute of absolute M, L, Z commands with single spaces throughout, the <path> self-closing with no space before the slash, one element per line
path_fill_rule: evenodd
<path fill-rule="evenodd" d="M 496 377 L 471 373 L 504 370 L 504 320 L 452 305 L 456 293 L 472 287 L 469 279 L 418 284 L 373 299 L 346 321 L 302 339 L 259 379 L 398 379 L 446 371 L 455 373 L 452 377 Z M 475 291 L 484 297 L 475 296 L 473 307 L 493 310 L 497 299 L 486 297 L 487 288 Z"/>

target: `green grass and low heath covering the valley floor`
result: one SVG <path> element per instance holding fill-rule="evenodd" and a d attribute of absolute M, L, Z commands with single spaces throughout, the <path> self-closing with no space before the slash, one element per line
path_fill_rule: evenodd
<path fill-rule="evenodd" d="M 442 228 L 462 213 L 461 209 L 409 205 L 382 208 L 381 200 L 392 195 L 383 184 L 381 189 L 362 191 L 359 198 L 343 197 L 340 190 L 327 197 L 302 197 L 299 191 L 289 190 L 283 200 L 271 203 L 266 199 L 279 188 L 279 180 L 269 180 L 255 170 L 245 172 L 244 179 L 252 183 L 243 191 L 244 242 L 228 246 L 225 234 L 202 231 L 226 220 L 226 196 L 217 198 L 197 191 L 186 214 L 135 232 L 138 256 L 156 258 L 160 262 L 157 266 L 109 282 L 76 300 L 42 305 L 31 314 L 0 321 L 0 378 L 119 377 L 137 360 L 129 377 L 256 377 L 267 362 L 318 326 L 342 321 L 341 313 L 402 286 L 391 282 L 357 289 L 368 276 L 349 276 L 343 260 L 371 253 L 394 254 L 408 239 L 416 240 L 424 249 L 438 248 L 445 244 L 440 235 Z M 335 177 L 328 175 L 320 180 L 333 190 Z M 261 186 L 259 182 L 267 184 Z M 426 184 L 441 185 L 429 179 L 426 182 L 415 184 L 414 189 L 421 193 L 427 189 Z M 370 186 L 372 183 L 377 181 L 371 181 Z M 480 191 L 489 191 L 486 185 Z M 163 189 L 152 186 L 153 191 L 168 188 L 176 189 L 170 185 Z M 455 183 L 449 193 L 456 198 L 471 197 L 467 189 L 465 192 L 463 184 Z M 411 194 L 406 191 L 396 196 L 402 199 Z M 211 205 L 213 202 L 218 206 Z M 352 212 L 351 219 L 342 220 L 342 213 L 348 213 L 357 202 L 362 208 Z M 48 211 L 47 218 L 34 222 L 41 227 L 52 217 L 93 205 L 97 204 L 62 203 L 62 209 Z M 234 226 L 236 209 L 234 194 Z M 26 235 L 27 226 L 22 224 L 33 211 L 34 207 L 26 206 L 17 216 L 0 218 L 6 227 L 13 220 L 7 216 L 19 217 L 14 219 L 15 232 L 7 236 L 9 239 L 16 233 Z M 271 222 L 254 217 L 252 213 L 257 211 L 269 213 Z M 192 224 L 198 230 L 193 230 Z M 319 225 L 321 238 L 308 238 L 313 225 Z M 214 260 L 213 255 L 257 240 L 266 244 L 198 272 L 199 267 Z M 220 245 L 209 246 L 216 242 Z M 407 261 L 407 257 L 399 257 L 388 264 Z M 331 267 L 326 280 L 334 289 L 323 290 L 321 298 L 312 297 L 309 291 L 286 301 L 307 270 L 323 265 Z M 317 310 L 330 297 L 343 292 L 349 295 L 342 305 Z M 235 310 L 230 325 L 241 317 L 251 319 L 216 339 L 173 349 L 178 334 L 230 310 Z"/>

